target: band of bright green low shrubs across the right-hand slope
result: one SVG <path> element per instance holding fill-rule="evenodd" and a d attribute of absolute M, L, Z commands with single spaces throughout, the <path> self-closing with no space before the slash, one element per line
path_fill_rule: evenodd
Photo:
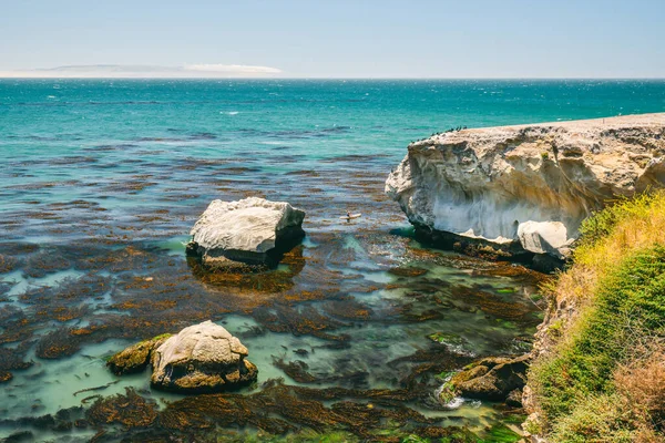
<path fill-rule="evenodd" d="M 612 391 L 616 364 L 631 357 L 636 327 L 663 333 L 665 247 L 628 257 L 601 285 L 595 303 L 569 333 L 556 357 L 535 364 L 530 380 L 550 421 L 570 414 L 585 396 Z"/>

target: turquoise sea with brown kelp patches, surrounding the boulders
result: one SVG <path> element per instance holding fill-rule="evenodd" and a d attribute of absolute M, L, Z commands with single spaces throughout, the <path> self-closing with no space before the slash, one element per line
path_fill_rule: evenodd
<path fill-rule="evenodd" d="M 279 387 L 264 387 L 283 379 L 313 389 L 289 395 L 336 411 L 356 436 L 424 425 L 482 433 L 504 416 L 500 405 L 451 411 L 436 389 L 474 358 L 529 348 L 542 276 L 419 245 L 383 196 L 388 172 L 410 141 L 452 126 L 664 110 L 664 81 L 0 80 L 0 437 L 268 432 L 252 420 L 194 420 L 147 374 L 104 367 L 136 340 L 207 319 L 238 336 L 259 369 L 244 398 L 287 404 Z M 248 195 L 304 208 L 305 243 L 275 271 L 201 274 L 185 259 L 188 229 L 211 199 Z M 346 223 L 346 210 L 364 216 Z M 157 418 L 139 426 L 90 412 L 125 388 L 154 401 Z M 397 405 L 377 400 L 382 421 L 350 425 L 348 402 L 366 405 L 376 389 L 408 392 L 400 406 L 421 419 L 385 419 Z M 290 423 L 287 433 L 329 426 L 253 401 Z M 205 426 L 178 429 L 168 402 Z"/>

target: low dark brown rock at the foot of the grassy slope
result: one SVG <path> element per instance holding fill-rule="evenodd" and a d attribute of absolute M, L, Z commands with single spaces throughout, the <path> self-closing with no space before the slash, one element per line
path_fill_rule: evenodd
<path fill-rule="evenodd" d="M 456 374 L 450 384 L 456 394 L 469 399 L 516 401 L 526 383 L 529 359 L 487 358 Z"/>

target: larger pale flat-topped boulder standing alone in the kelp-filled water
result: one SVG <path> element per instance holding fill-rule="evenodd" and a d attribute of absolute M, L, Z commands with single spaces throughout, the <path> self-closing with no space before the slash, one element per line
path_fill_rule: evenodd
<path fill-rule="evenodd" d="M 286 202 L 213 200 L 192 228 L 187 254 L 211 268 L 274 266 L 304 236 L 305 212 Z"/>

